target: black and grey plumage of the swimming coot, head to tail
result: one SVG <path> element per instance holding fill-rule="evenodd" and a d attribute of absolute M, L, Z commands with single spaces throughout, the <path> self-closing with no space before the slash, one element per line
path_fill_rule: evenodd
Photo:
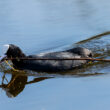
<path fill-rule="evenodd" d="M 76 47 L 61 52 L 41 53 L 26 56 L 19 47 L 10 44 L 7 58 L 91 58 L 92 52 L 86 48 Z M 70 70 L 88 63 L 87 60 L 12 60 L 13 66 L 18 69 L 28 69 L 44 72 Z"/>

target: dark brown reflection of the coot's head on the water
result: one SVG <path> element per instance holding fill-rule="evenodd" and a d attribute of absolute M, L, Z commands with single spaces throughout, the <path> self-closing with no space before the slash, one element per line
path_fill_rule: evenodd
<path fill-rule="evenodd" d="M 26 83 L 27 76 L 12 75 L 10 82 L 8 82 L 8 84 L 4 84 L 3 79 L 2 85 L 0 85 L 0 87 L 6 92 L 8 97 L 12 98 L 16 97 L 20 92 L 24 90 Z"/>

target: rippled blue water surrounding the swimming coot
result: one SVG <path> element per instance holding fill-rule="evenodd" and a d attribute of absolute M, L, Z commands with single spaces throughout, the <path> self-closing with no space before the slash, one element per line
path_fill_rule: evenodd
<path fill-rule="evenodd" d="M 0 0 L 0 55 L 12 43 L 26 54 L 81 46 L 107 59 L 109 31 L 109 0 Z M 13 76 L 8 87 L 14 97 L 0 89 L 0 110 L 110 109 L 110 63 L 52 74 L 15 73 L 2 65 L 0 83 L 4 74 L 6 84 Z"/>

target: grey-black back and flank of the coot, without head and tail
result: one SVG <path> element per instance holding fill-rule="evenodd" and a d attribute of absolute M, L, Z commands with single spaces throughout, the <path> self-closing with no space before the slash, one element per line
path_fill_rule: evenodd
<path fill-rule="evenodd" d="M 71 52 L 53 52 L 30 55 L 28 58 L 81 58 L 80 55 Z M 86 63 L 86 60 L 27 60 L 25 68 L 37 71 L 63 71 L 72 69 Z"/>

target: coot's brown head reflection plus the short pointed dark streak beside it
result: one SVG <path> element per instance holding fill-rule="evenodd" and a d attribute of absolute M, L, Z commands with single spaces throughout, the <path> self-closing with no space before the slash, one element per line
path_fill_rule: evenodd
<path fill-rule="evenodd" d="M 39 81 L 49 78 L 49 77 L 34 78 L 32 81 L 28 82 L 28 76 L 12 74 L 11 80 L 8 82 L 5 75 L 6 74 L 4 74 L 4 76 L 2 77 L 2 84 L 0 85 L 0 88 L 2 88 L 6 92 L 6 95 L 9 98 L 16 97 L 18 94 L 20 94 L 27 84 L 37 83 Z M 8 83 L 4 84 L 4 80 L 7 80 Z"/>

